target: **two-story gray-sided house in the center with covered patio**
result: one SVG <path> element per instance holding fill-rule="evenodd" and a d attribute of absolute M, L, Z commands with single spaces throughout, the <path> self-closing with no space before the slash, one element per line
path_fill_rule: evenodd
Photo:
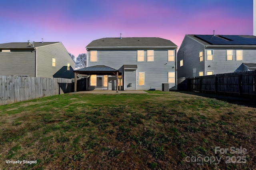
<path fill-rule="evenodd" d="M 87 49 L 88 90 L 162 90 L 176 87 L 177 45 L 162 38 L 102 38 Z M 117 79 L 118 74 L 118 79 Z M 118 84 L 116 82 L 118 81 Z"/>

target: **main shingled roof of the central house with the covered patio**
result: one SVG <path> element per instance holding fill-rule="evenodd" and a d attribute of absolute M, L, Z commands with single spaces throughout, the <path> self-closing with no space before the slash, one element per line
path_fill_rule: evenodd
<path fill-rule="evenodd" d="M 102 38 L 92 41 L 86 46 L 87 49 L 99 48 L 177 48 L 177 45 L 168 39 L 157 37 L 137 38 Z"/>

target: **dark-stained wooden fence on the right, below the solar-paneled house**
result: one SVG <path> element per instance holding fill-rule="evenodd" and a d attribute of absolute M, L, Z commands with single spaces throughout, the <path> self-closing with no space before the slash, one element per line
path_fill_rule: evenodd
<path fill-rule="evenodd" d="M 256 70 L 188 77 L 178 84 L 178 90 L 256 96 Z"/>

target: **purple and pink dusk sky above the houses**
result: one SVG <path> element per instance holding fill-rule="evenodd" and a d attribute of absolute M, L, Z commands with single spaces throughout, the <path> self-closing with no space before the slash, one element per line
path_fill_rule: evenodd
<path fill-rule="evenodd" d="M 252 35 L 253 0 L 4 0 L 0 43 L 62 42 L 69 53 L 105 37 Z"/>

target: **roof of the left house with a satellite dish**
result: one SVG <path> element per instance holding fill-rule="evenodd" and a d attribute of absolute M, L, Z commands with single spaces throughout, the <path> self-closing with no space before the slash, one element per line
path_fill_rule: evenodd
<path fill-rule="evenodd" d="M 55 43 L 60 43 L 60 42 L 35 42 L 34 43 L 34 47 L 41 47 L 44 45 L 50 45 L 50 44 L 55 44 Z M 3 43 L 0 44 L 0 49 L 14 49 L 14 48 L 34 48 L 32 47 L 32 45 L 28 44 L 28 42 L 26 43 Z"/>

